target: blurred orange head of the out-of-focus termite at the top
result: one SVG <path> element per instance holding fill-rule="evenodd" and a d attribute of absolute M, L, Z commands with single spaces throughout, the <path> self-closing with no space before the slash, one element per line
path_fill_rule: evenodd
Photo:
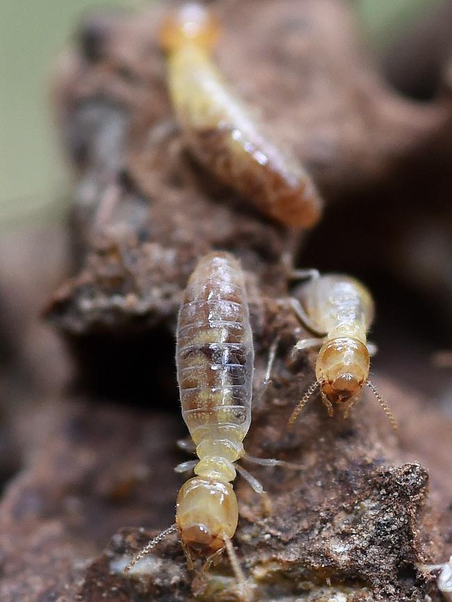
<path fill-rule="evenodd" d="M 175 10 L 163 23 L 160 43 L 166 51 L 188 43 L 211 48 L 218 40 L 219 32 L 220 26 L 207 8 L 188 3 Z"/>

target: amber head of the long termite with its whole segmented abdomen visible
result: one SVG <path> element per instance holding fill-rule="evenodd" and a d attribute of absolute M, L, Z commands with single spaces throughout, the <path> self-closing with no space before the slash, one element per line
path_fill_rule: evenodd
<path fill-rule="evenodd" d="M 207 558 L 225 547 L 239 520 L 232 485 L 194 477 L 177 496 L 176 523 L 189 560 Z"/>

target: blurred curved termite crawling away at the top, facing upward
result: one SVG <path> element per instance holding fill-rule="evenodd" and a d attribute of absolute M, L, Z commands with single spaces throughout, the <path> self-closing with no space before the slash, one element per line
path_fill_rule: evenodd
<path fill-rule="evenodd" d="M 206 8 L 186 4 L 161 29 L 168 88 L 186 145 L 205 168 L 284 225 L 312 227 L 321 198 L 296 158 L 267 140 L 229 90 L 211 57 L 220 27 Z"/>

